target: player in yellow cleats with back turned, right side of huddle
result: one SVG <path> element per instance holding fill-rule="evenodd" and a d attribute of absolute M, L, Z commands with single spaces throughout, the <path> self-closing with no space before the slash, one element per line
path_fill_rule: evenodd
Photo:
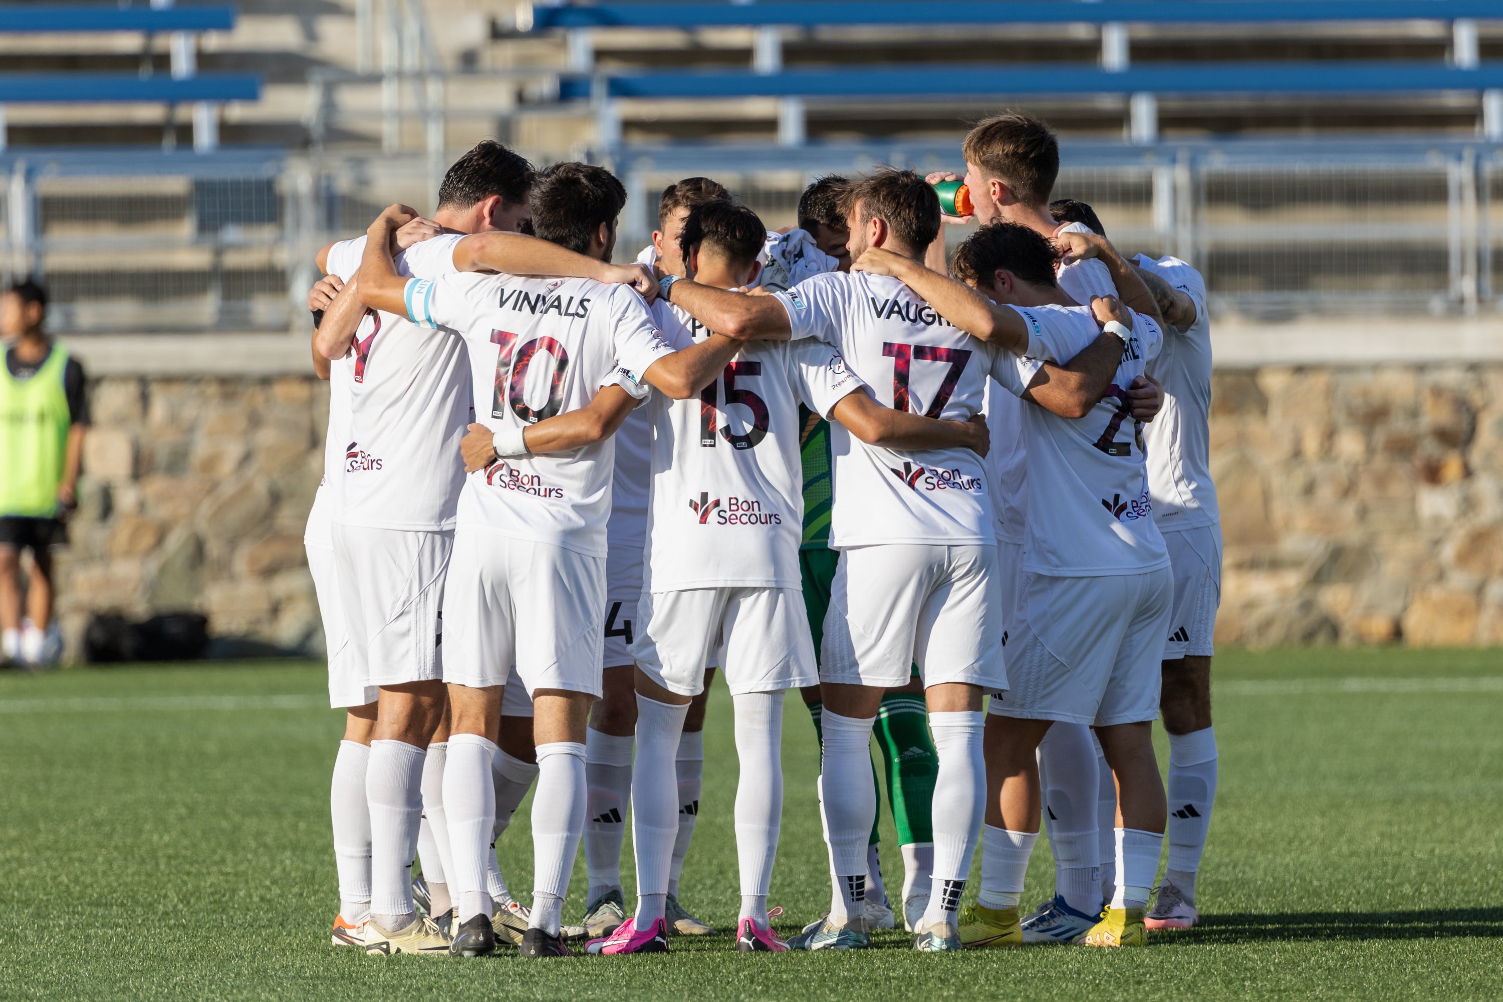
<path fill-rule="evenodd" d="M 936 309 L 974 323 L 975 293 L 998 305 L 1060 302 L 1057 251 L 1022 225 L 983 227 L 956 255 L 974 290 L 896 261 L 896 273 Z M 890 264 L 882 255 L 858 267 Z M 1100 306 L 1106 300 L 1093 303 Z M 984 312 L 978 314 L 984 321 Z M 1124 312 L 1106 329 L 1123 338 L 1114 388 L 1132 385 L 1159 352 L 1157 324 Z M 1130 323 L 1132 326 L 1126 326 Z M 996 368 L 1004 388 L 1027 398 L 1039 374 Z M 1127 430 L 1127 422 L 1132 430 Z M 1115 828 L 1112 900 L 1081 942 L 1144 942 L 1148 901 L 1163 843 L 1165 799 L 1153 756 L 1159 665 L 1169 620 L 1172 577 L 1148 497 L 1141 430 L 1126 394 L 1114 389 L 1087 413 L 1063 418 L 1024 410 L 1028 440 L 1028 521 L 1024 544 L 1027 616 L 1012 640 L 1006 693 L 989 708 L 987 804 L 981 894 L 962 928 L 974 945 L 1021 942 L 1018 898 L 1037 838 L 1040 795 L 1036 751 L 1055 721 L 1096 729 L 1121 792 Z"/>

